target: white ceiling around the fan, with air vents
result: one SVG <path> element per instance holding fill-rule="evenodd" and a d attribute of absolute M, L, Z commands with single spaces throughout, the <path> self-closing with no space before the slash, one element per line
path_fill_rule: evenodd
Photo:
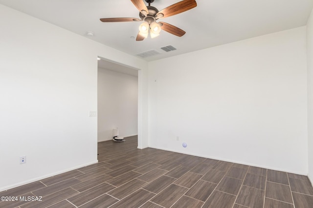
<path fill-rule="evenodd" d="M 179 0 L 155 0 L 161 10 Z M 171 57 L 233 41 L 287 30 L 307 23 L 313 0 L 196 0 L 198 6 L 164 18 L 186 34 L 179 38 L 165 31 L 154 39 L 135 41 L 140 22 L 101 22 L 100 18 L 138 18 L 131 0 L 0 0 L 0 3 L 58 25 L 130 55 L 152 49 L 161 54 L 147 61 Z M 176 51 L 160 48 L 172 45 Z"/>

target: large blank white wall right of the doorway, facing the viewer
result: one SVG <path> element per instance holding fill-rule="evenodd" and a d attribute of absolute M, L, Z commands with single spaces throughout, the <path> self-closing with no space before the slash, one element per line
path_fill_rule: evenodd
<path fill-rule="evenodd" d="M 307 174 L 307 143 L 305 26 L 149 62 L 149 147 Z"/>

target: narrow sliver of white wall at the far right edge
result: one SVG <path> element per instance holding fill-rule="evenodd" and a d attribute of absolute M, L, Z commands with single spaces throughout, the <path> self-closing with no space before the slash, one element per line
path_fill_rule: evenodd
<path fill-rule="evenodd" d="M 307 24 L 309 178 L 313 183 L 313 10 Z"/>

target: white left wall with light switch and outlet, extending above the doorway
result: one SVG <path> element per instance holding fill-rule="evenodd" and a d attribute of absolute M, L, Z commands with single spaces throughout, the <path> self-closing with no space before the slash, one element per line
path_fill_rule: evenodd
<path fill-rule="evenodd" d="M 3 5 L 0 28 L 0 191 L 97 162 L 97 56 L 147 62 Z"/>

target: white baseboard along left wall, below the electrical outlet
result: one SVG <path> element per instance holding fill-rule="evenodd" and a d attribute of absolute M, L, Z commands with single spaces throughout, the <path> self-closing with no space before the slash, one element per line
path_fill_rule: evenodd
<path fill-rule="evenodd" d="M 49 178 L 51 176 L 55 176 L 55 175 L 58 175 L 58 174 L 61 174 L 61 173 L 65 173 L 65 172 L 71 171 L 71 170 L 76 170 L 76 169 L 79 169 L 79 168 L 83 168 L 85 166 L 89 166 L 89 165 L 92 165 L 92 164 L 95 164 L 95 163 L 98 163 L 98 160 L 90 162 L 90 163 L 86 163 L 86 164 L 83 164 L 83 165 L 79 165 L 79 166 L 76 166 L 76 167 L 73 167 L 73 168 L 69 168 L 69 169 L 66 169 L 66 170 L 61 170 L 61 171 L 57 171 L 57 172 L 50 173 L 50 174 L 47 174 L 47 175 L 43 175 L 43 176 L 40 176 L 40 177 L 37 177 L 37 178 L 32 178 L 30 180 L 23 181 L 23 182 L 20 182 L 20 183 L 16 183 L 16 184 L 13 184 L 13 185 L 10 185 L 10 186 L 1 187 L 0 191 L 17 188 L 17 187 L 20 187 L 20 186 L 23 186 L 23 185 L 26 185 L 26 184 L 30 184 L 30 183 L 33 183 L 33 182 L 36 182 L 36 181 L 43 180 L 45 178 Z"/>

